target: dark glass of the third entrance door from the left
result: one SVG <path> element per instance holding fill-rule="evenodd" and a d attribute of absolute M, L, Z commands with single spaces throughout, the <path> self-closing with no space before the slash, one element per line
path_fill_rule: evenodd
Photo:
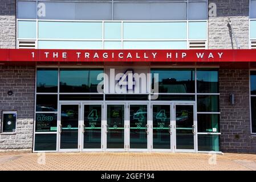
<path fill-rule="evenodd" d="M 107 148 L 124 148 L 124 105 L 107 105 Z"/>

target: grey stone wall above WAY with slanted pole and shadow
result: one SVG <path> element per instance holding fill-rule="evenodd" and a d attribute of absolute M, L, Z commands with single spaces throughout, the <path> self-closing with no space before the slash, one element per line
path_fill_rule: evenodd
<path fill-rule="evenodd" d="M 227 20 L 230 18 L 241 48 L 249 48 L 249 0 L 209 0 L 216 3 L 217 17 L 209 17 L 209 49 L 236 49 Z"/>

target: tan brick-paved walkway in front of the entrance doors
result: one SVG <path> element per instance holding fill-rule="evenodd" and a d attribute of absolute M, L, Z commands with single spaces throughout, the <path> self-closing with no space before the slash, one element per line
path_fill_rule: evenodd
<path fill-rule="evenodd" d="M 254 170 L 256 155 L 184 153 L 0 153 L 0 170 Z"/>

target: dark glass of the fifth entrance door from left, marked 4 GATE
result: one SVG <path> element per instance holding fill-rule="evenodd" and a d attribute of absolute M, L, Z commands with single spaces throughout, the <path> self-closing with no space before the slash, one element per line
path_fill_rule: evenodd
<path fill-rule="evenodd" d="M 153 148 L 170 149 L 170 105 L 153 105 Z"/>

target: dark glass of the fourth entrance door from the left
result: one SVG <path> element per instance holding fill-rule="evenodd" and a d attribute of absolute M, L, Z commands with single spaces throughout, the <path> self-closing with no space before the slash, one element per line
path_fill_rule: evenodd
<path fill-rule="evenodd" d="M 148 148 L 147 121 L 147 105 L 130 105 L 130 148 Z"/>

